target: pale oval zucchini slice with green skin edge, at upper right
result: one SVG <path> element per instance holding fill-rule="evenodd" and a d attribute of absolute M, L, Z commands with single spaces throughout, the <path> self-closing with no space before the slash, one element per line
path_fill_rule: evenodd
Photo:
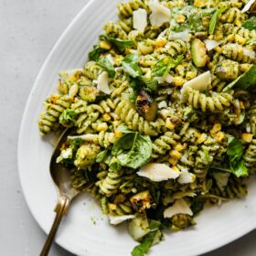
<path fill-rule="evenodd" d="M 204 67 L 208 61 L 206 44 L 195 38 L 191 44 L 191 55 L 197 68 Z"/>

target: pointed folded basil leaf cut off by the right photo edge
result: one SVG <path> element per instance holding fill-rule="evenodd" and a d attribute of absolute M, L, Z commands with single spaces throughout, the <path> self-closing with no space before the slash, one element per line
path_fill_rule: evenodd
<path fill-rule="evenodd" d="M 223 89 L 223 92 L 229 91 L 231 88 L 236 87 L 242 90 L 249 90 L 256 85 L 256 65 L 251 66 L 244 72 L 237 80 L 233 80 Z"/>

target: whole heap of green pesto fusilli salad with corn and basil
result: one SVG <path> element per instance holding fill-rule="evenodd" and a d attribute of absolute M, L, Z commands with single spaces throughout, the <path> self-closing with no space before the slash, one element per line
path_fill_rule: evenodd
<path fill-rule="evenodd" d="M 59 72 L 38 121 L 70 128 L 57 162 L 128 222 L 144 255 L 164 229 L 247 195 L 256 169 L 256 4 L 131 0 L 81 69 Z"/>

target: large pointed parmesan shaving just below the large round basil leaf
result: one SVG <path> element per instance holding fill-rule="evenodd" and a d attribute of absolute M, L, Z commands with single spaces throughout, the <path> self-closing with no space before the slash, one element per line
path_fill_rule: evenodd
<path fill-rule="evenodd" d="M 179 176 L 179 174 L 179 171 L 176 171 L 167 165 L 156 163 L 144 165 L 137 172 L 138 176 L 147 177 L 155 182 L 168 180 L 170 178 L 175 179 Z"/>

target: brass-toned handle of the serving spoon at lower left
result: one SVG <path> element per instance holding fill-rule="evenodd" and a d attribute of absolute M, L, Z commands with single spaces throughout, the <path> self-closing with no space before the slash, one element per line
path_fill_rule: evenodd
<path fill-rule="evenodd" d="M 57 230 L 59 229 L 59 224 L 61 222 L 61 219 L 67 213 L 67 210 L 69 208 L 69 203 L 70 203 L 70 200 L 68 197 L 59 197 L 58 204 L 55 208 L 56 217 L 52 223 L 51 229 L 48 233 L 48 238 L 47 238 L 45 245 L 40 253 L 40 256 L 48 255 L 48 251 L 50 250 L 50 247 L 54 241 Z"/>

